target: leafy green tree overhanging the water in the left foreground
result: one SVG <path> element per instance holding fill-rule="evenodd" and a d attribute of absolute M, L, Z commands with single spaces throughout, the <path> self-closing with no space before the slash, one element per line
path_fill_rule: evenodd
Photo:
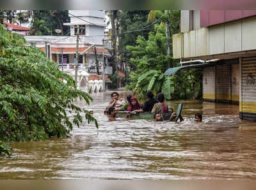
<path fill-rule="evenodd" d="M 98 126 L 90 112 L 73 103 L 79 98 L 89 104 L 92 98 L 77 90 L 73 78 L 62 73 L 42 50 L 25 43 L 0 25 L 0 140 L 65 137 L 73 124 L 79 126 L 83 121 L 81 113 Z"/>

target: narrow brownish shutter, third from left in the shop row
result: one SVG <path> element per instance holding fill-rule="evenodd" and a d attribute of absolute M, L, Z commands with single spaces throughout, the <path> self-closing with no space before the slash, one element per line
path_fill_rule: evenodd
<path fill-rule="evenodd" d="M 239 64 L 230 64 L 230 103 L 239 104 Z"/>

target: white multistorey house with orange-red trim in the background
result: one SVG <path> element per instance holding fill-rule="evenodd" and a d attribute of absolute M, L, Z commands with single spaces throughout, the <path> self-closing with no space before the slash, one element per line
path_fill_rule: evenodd
<path fill-rule="evenodd" d="M 98 10 L 70 10 L 70 26 L 68 36 L 25 36 L 27 45 L 36 46 L 45 51 L 47 57 L 56 62 L 64 71 L 70 71 L 76 63 L 77 27 L 79 27 L 79 53 L 84 52 L 91 45 L 95 45 L 99 71 L 102 73 L 103 46 L 105 13 Z M 92 47 L 85 54 L 79 55 L 79 68 L 86 68 L 89 73 L 95 75 L 95 48 Z M 104 55 L 109 57 L 109 52 L 104 49 Z M 63 56 L 63 61 L 62 61 Z M 106 59 L 107 60 L 107 59 Z M 106 75 L 112 75 L 112 68 L 108 66 Z"/>

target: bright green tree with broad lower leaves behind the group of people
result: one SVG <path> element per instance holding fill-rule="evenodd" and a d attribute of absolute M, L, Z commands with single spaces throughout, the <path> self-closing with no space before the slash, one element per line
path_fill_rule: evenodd
<path fill-rule="evenodd" d="M 173 92 L 173 88 L 171 83 L 168 85 L 170 77 L 164 77 L 163 73 L 168 62 L 172 62 L 172 66 L 176 66 L 177 63 L 170 55 L 166 55 L 164 26 L 156 24 L 154 31 L 148 34 L 148 40 L 138 36 L 136 44 L 127 46 L 127 50 L 132 53 L 131 64 L 137 68 L 131 72 L 131 83 L 127 88 L 135 89 L 140 99 L 145 98 L 145 92 L 148 90 L 154 91 L 155 94 L 163 91 L 166 98 L 171 99 L 170 93 Z"/>

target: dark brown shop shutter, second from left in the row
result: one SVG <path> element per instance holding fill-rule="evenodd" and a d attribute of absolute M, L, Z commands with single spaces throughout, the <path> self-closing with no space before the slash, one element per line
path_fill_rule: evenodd
<path fill-rule="evenodd" d="M 226 64 L 216 66 L 216 102 L 230 102 L 230 75 Z"/>

